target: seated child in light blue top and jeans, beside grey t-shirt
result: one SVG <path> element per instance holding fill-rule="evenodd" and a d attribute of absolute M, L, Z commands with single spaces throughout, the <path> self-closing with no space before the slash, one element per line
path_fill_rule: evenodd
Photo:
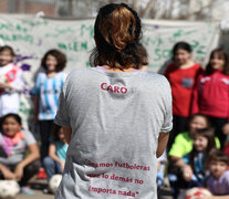
<path fill-rule="evenodd" d="M 63 172 L 67 147 L 69 145 L 64 137 L 63 128 L 54 130 L 53 139 L 49 147 L 49 156 L 43 160 L 48 180 L 53 175 Z"/>

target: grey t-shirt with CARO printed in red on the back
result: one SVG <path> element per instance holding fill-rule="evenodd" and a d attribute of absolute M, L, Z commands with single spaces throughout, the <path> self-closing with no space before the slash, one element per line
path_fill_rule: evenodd
<path fill-rule="evenodd" d="M 63 86 L 55 123 L 72 127 L 56 199 L 157 198 L 157 138 L 173 126 L 164 76 L 75 70 Z"/>

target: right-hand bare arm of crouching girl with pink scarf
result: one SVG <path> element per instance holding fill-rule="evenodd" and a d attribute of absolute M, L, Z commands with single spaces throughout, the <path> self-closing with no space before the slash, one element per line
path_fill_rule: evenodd
<path fill-rule="evenodd" d="M 32 161 L 40 158 L 39 147 L 37 143 L 29 145 L 28 149 L 29 149 L 29 155 L 25 156 L 25 158 L 22 161 L 20 161 L 14 169 L 14 174 L 18 180 L 20 180 L 23 176 L 23 168 L 29 164 L 31 164 Z"/>

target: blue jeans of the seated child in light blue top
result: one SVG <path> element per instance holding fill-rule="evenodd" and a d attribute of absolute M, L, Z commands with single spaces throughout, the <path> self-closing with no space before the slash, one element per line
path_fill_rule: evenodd
<path fill-rule="evenodd" d="M 48 180 L 50 180 L 55 174 L 62 174 L 61 165 L 58 161 L 54 161 L 51 157 L 45 157 L 43 159 L 43 165 Z"/>

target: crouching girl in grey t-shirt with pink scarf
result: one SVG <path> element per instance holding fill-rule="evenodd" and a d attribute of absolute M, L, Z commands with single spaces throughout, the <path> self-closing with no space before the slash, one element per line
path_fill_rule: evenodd
<path fill-rule="evenodd" d="M 22 129 L 20 116 L 3 116 L 0 133 L 0 178 L 17 180 L 22 192 L 32 195 L 33 191 L 27 186 L 39 171 L 39 157 L 37 142 L 30 132 Z"/>

